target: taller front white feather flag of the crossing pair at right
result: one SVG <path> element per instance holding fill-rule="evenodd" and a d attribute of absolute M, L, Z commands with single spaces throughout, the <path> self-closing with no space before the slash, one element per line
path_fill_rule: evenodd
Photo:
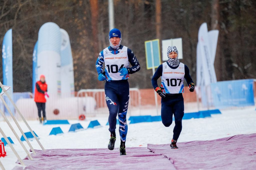
<path fill-rule="evenodd" d="M 204 72 L 204 82 L 205 86 L 210 83 L 217 82 L 214 65 L 212 63 L 209 39 L 208 39 L 208 30 L 207 24 L 203 23 L 198 32 L 198 43 L 200 49 L 200 59 L 202 63 L 202 68 Z M 199 65 L 200 66 L 200 65 Z"/>

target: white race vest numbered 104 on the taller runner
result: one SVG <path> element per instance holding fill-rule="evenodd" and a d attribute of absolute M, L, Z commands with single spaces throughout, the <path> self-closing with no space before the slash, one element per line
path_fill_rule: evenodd
<path fill-rule="evenodd" d="M 130 67 L 127 54 L 127 47 L 123 46 L 123 48 L 119 49 L 118 51 L 118 54 L 112 54 L 108 48 L 105 48 L 103 50 L 105 73 L 107 80 L 125 80 L 129 78 L 129 74 L 120 76 L 121 73 L 118 72 L 118 70 L 121 67 Z"/>

